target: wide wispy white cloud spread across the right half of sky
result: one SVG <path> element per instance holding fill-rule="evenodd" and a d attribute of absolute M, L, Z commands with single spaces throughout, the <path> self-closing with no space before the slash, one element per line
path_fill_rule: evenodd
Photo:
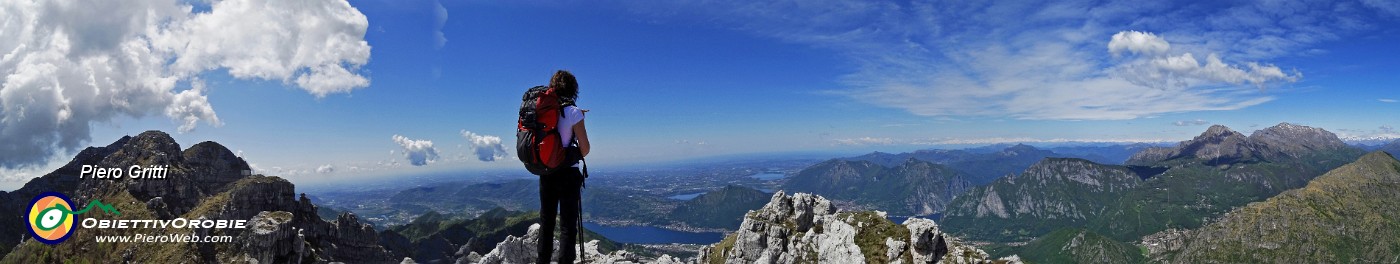
<path fill-rule="evenodd" d="M 934 117 L 1120 120 L 1233 110 L 1302 78 L 1270 61 L 1375 29 L 1355 1 L 629 3 L 843 56 L 860 102 Z"/>

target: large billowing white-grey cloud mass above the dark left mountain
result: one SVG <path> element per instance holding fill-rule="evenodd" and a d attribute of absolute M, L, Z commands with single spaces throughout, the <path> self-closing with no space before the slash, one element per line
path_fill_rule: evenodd
<path fill-rule="evenodd" d="M 197 78 L 211 71 L 318 98 L 367 87 L 365 28 L 343 0 L 3 1 L 0 168 L 73 152 L 119 117 L 221 126 Z"/>

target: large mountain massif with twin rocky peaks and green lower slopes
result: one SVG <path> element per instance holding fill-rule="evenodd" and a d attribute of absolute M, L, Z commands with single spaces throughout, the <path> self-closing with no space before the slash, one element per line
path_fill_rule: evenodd
<path fill-rule="evenodd" d="M 1245 137 L 1212 126 L 1176 147 L 1144 149 L 1128 166 L 1063 159 L 1056 163 L 1074 169 L 1033 166 L 969 190 L 952 201 L 942 222 L 987 240 L 1029 240 L 1075 226 L 1137 240 L 1169 228 L 1201 226 L 1231 208 L 1302 187 L 1361 154 L 1315 127 L 1282 123 Z"/>

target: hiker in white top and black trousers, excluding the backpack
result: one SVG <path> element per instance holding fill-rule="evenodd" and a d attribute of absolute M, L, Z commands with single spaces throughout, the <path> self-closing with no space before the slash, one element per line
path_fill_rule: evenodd
<path fill-rule="evenodd" d="M 574 74 L 560 70 L 549 78 L 549 87 L 559 92 L 559 101 L 564 106 L 563 116 L 559 117 L 559 138 L 564 144 L 564 151 L 570 156 L 582 159 L 588 155 L 588 130 L 584 129 L 584 113 L 578 109 L 578 81 Z M 584 187 L 584 173 L 578 170 L 578 159 L 566 159 L 571 165 L 561 165 L 553 173 L 539 177 L 539 258 L 538 263 L 549 263 L 554 251 L 554 217 L 559 217 L 560 236 L 559 263 L 574 263 L 574 244 L 578 237 L 580 221 L 580 190 Z"/>

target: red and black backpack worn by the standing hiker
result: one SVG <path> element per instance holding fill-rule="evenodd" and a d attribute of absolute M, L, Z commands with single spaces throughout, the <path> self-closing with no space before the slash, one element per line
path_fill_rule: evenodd
<path fill-rule="evenodd" d="M 515 130 L 515 156 L 535 175 L 550 175 L 573 165 L 559 135 L 563 105 L 554 88 L 533 87 L 521 98 L 521 117 Z"/>

